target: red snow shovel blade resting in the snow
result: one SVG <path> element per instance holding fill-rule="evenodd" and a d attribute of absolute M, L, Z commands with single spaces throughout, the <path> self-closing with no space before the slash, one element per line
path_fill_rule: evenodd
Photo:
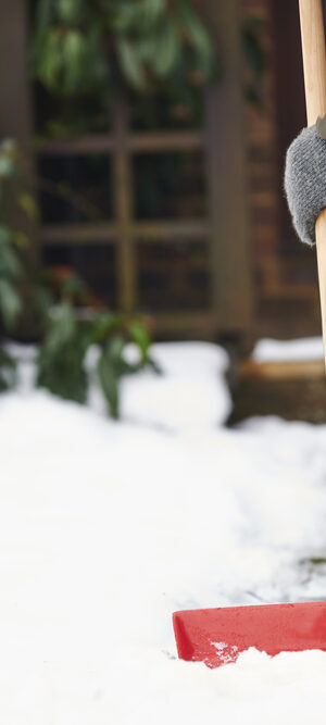
<path fill-rule="evenodd" d="M 175 612 L 173 625 L 179 658 L 209 667 L 249 647 L 272 655 L 326 650 L 326 602 L 189 610 Z"/>

